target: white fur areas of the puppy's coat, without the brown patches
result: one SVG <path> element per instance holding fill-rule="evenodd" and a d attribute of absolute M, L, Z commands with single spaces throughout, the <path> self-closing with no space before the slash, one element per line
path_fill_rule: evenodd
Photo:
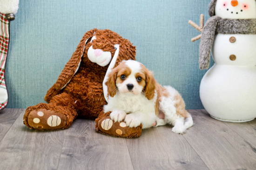
<path fill-rule="evenodd" d="M 164 119 L 160 119 L 155 115 L 155 101 L 157 99 L 157 93 L 155 91 L 155 97 L 152 100 L 148 100 L 143 93 L 144 87 L 140 87 L 136 81 L 135 74 L 141 72 L 141 63 L 134 60 L 123 61 L 132 70 L 132 73 L 127 79 L 116 84 L 118 90 L 114 97 L 109 97 L 108 105 L 104 106 L 104 112 L 112 111 L 110 117 L 112 120 L 121 121 L 124 120 L 127 126 L 137 127 L 142 124 L 142 128 L 152 127 L 156 122 L 156 126 L 162 125 L 173 125 L 172 132 L 185 133 L 186 129 L 193 126 L 193 120 L 191 115 L 184 119 L 184 117 L 176 113 L 175 107 L 175 95 L 178 92 L 170 87 L 165 86 L 164 88 L 168 91 L 169 97 L 162 96 L 159 109 L 165 114 Z M 137 88 L 133 92 L 129 92 L 126 85 L 132 83 L 134 88 Z M 137 94 L 137 92 L 139 92 Z M 126 113 L 130 113 L 126 115 Z"/>

